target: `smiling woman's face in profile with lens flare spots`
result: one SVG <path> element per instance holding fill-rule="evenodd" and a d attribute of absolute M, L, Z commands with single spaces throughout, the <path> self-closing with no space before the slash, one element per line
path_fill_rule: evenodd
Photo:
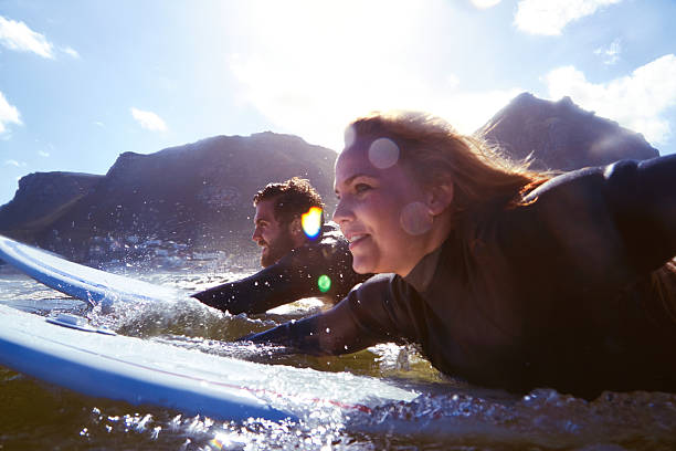
<path fill-rule="evenodd" d="M 334 220 L 350 242 L 358 273 L 405 276 L 424 256 L 432 216 L 425 191 L 399 162 L 388 138 L 358 138 L 336 161 Z"/>

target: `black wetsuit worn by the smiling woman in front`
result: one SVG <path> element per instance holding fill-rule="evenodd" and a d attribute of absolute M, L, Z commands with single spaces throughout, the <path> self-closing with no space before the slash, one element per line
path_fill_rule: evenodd
<path fill-rule="evenodd" d="M 456 219 L 405 279 L 244 338 L 313 354 L 413 342 L 443 373 L 514 391 L 676 391 L 676 308 L 651 284 L 676 255 L 676 156 L 569 172 L 526 200 Z"/>

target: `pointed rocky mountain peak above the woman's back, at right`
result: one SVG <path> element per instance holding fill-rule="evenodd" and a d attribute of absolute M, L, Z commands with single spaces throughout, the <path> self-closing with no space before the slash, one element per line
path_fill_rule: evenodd
<path fill-rule="evenodd" d="M 585 112 L 570 97 L 549 102 L 524 93 L 476 132 L 534 169 L 573 170 L 658 156 L 643 135 Z"/>

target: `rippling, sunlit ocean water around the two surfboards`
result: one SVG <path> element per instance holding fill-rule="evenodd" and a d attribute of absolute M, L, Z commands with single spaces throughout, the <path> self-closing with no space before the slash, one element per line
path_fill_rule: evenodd
<path fill-rule="evenodd" d="M 192 293 L 247 275 L 213 269 L 114 272 Z M 0 270 L 0 303 L 47 315 L 68 312 L 118 334 L 260 363 L 385 378 L 420 394 L 370 413 L 297 422 L 219 421 L 152 406 L 92 398 L 0 367 L 0 450 L 675 450 L 676 395 L 605 392 L 596 400 L 540 388 L 526 396 L 444 377 L 414 348 L 379 345 L 340 357 L 275 354 L 231 340 L 318 312 L 304 300 L 265 315 L 230 316 L 177 305 L 102 313 Z M 57 370 L 57 369 L 55 369 Z"/>

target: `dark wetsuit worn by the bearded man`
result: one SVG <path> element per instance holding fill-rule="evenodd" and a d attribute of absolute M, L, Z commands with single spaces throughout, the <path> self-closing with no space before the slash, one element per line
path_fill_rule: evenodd
<path fill-rule="evenodd" d="M 326 290 L 328 276 L 330 286 Z M 277 263 L 240 281 L 193 294 L 207 305 L 233 315 L 239 313 L 263 313 L 303 297 L 321 297 L 332 304 L 342 300 L 368 275 L 352 270 L 352 254 L 338 226 L 323 226 L 318 239 L 292 250 Z"/>

